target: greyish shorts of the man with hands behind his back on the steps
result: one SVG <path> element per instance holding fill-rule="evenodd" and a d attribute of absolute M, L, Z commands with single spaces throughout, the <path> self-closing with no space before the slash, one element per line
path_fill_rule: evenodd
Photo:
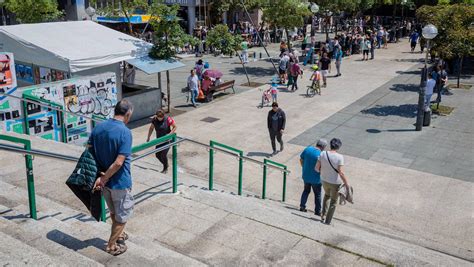
<path fill-rule="evenodd" d="M 110 213 L 115 216 L 115 220 L 118 223 L 126 223 L 133 213 L 134 200 L 131 190 L 105 187 L 103 194 Z"/>

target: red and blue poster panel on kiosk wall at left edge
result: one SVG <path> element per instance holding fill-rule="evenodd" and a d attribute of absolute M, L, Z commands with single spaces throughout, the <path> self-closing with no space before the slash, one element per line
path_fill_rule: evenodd
<path fill-rule="evenodd" d="M 21 103 L 9 95 L 20 96 L 15 61 L 12 53 L 0 52 L 0 130 L 23 133 Z"/>

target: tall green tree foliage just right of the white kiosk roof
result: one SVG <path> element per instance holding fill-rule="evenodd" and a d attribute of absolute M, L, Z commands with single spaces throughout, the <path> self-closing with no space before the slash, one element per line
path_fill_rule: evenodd
<path fill-rule="evenodd" d="M 186 43 L 192 46 L 197 43 L 197 40 L 186 34 L 179 25 L 178 10 L 179 5 L 154 3 L 151 6 L 150 24 L 155 31 L 155 38 L 150 57 L 170 59 L 175 56 L 177 47 L 183 47 Z"/>

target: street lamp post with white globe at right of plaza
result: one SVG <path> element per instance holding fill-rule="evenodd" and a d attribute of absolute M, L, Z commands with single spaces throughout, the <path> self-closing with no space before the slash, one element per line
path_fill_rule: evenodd
<path fill-rule="evenodd" d="M 426 80 L 428 78 L 428 51 L 430 50 L 430 41 L 438 35 L 438 29 L 433 24 L 428 24 L 422 29 L 423 38 L 426 39 L 425 67 L 421 73 L 420 91 L 418 94 L 418 113 L 416 116 L 416 130 L 423 128 L 423 118 L 425 113 L 425 90 Z"/>

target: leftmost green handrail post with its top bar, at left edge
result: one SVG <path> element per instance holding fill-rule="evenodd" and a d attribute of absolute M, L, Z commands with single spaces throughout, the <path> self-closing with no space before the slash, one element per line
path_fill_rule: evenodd
<path fill-rule="evenodd" d="M 0 134 L 0 140 L 23 144 L 25 150 L 31 151 L 31 141 L 22 139 L 14 136 Z M 35 180 L 33 176 L 33 157 L 31 155 L 25 155 L 25 167 L 26 167 L 26 183 L 28 187 L 28 202 L 30 207 L 31 218 L 37 220 L 36 215 L 36 196 L 35 196 Z"/>

